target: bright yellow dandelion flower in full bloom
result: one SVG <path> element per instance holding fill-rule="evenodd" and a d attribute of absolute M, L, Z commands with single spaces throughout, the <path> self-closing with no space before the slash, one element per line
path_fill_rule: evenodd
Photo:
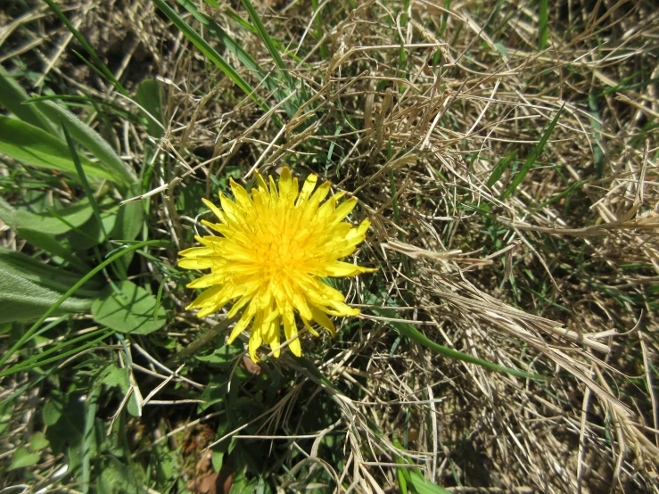
<path fill-rule="evenodd" d="M 204 200 L 219 223 L 202 220 L 202 224 L 221 236 L 196 236 L 202 247 L 181 251 L 183 259 L 178 261 L 181 268 L 210 268 L 210 274 L 187 285 L 206 290 L 186 309 L 199 309 L 197 316 L 205 317 L 234 301 L 228 313 L 228 317 L 234 317 L 244 308 L 228 342 L 251 323 L 249 350 L 255 362 L 261 343 L 268 344 L 279 357 L 276 349 L 280 346 L 281 325 L 286 340 L 296 336 L 296 312 L 309 333 L 316 336 L 311 321 L 334 335 L 334 324 L 328 316 L 359 313 L 344 303 L 342 292 L 320 278 L 376 271 L 339 260 L 355 251 L 370 226 L 367 219 L 357 227 L 343 221 L 357 199 L 337 207 L 345 193 L 336 193 L 321 205 L 330 192 L 330 183 L 325 182 L 314 192 L 317 176 L 310 175 L 300 191 L 298 179 L 292 178 L 287 168 L 279 178 L 278 190 L 273 177 L 269 177 L 269 187 L 263 177 L 256 177 L 258 187 L 252 189 L 251 197 L 231 180 L 235 202 L 221 192 L 221 210 Z M 293 354 L 301 355 L 298 338 L 289 346 Z"/>

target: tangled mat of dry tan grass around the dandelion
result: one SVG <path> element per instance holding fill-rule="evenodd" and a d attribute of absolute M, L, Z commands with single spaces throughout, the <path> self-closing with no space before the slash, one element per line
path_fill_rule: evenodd
<path fill-rule="evenodd" d="M 359 258 L 379 272 L 350 285 L 359 323 L 344 322 L 338 342 L 304 337 L 325 379 L 289 357 L 254 371 L 280 373 L 288 384 L 242 440 L 259 436 L 265 449 L 276 442 L 270 436 L 313 442 L 309 449 L 292 440 L 278 460 L 289 473 L 269 472 L 278 485 L 303 490 L 324 469 L 339 491 L 398 490 L 400 440 L 426 479 L 453 492 L 657 492 L 656 5 L 561 2 L 550 9 L 548 48 L 539 50 L 535 4 L 437 4 L 413 2 L 405 21 L 402 3 L 325 2 L 320 31 L 305 2 L 258 4 L 269 32 L 301 58 L 285 60 L 309 95 L 291 119 L 277 111 L 283 128 L 152 4 L 87 2 L 69 13 L 91 39 L 100 32 L 101 53 L 128 88 L 157 75 L 167 94 L 169 126 L 150 186 L 169 190 L 148 199 L 152 235 L 188 246 L 196 213 L 170 198 L 186 189 L 214 195 L 211 177 L 228 172 L 250 184 L 255 164 L 326 176 L 358 197 L 355 220 L 373 221 Z M 217 9 L 205 12 L 274 69 L 257 37 Z M 99 31 L 101 18 L 115 35 Z M 69 35 L 51 22 L 37 8 L 22 23 L 23 38 L 17 30 L 9 39 L 27 44 L 25 33 L 41 26 L 29 53 L 70 92 L 112 99 L 94 73 L 73 65 Z M 21 46 L 2 46 L 3 60 Z M 258 83 L 246 70 L 243 77 Z M 488 186 L 514 150 L 513 169 L 523 166 L 561 109 L 514 193 L 506 193 L 511 167 Z M 122 126 L 117 144 L 144 166 L 143 130 Z M 173 265 L 176 252 L 169 255 L 163 260 Z M 161 281 L 156 265 L 147 268 Z M 170 279 L 165 292 L 180 308 L 169 332 L 185 346 L 199 324 L 182 310 L 192 293 L 181 286 Z M 367 292 L 395 306 L 398 319 L 374 315 Z M 553 379 L 438 357 L 399 337 L 393 325 L 401 320 L 449 348 Z M 321 395 L 334 403 L 332 420 L 309 436 L 301 417 Z M 170 429 L 197 418 L 178 417 Z M 241 434 L 215 440 L 232 432 Z M 342 468 L 319 452 L 339 432 Z M 148 448 L 155 439 L 144 432 L 142 441 Z"/>

